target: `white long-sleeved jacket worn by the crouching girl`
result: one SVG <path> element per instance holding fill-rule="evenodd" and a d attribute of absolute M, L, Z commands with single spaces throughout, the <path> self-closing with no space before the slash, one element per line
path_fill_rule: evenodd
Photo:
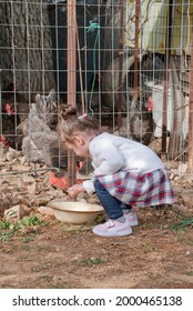
<path fill-rule="evenodd" d="M 146 146 L 106 132 L 91 140 L 89 152 L 92 158 L 94 177 L 113 174 L 118 171 L 143 174 L 164 169 L 161 159 Z M 88 193 L 94 192 L 93 180 L 83 182 Z"/>

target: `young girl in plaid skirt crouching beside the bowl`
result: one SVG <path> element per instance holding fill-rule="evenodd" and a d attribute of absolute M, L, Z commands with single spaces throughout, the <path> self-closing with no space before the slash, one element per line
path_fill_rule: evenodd
<path fill-rule="evenodd" d="M 69 188 L 70 195 L 95 192 L 109 220 L 95 225 L 103 237 L 128 235 L 138 224 L 133 207 L 172 204 L 171 182 L 163 162 L 150 148 L 131 139 L 101 133 L 88 116 L 75 108 L 61 108 L 58 131 L 64 146 L 77 156 L 92 159 L 94 178 Z"/>

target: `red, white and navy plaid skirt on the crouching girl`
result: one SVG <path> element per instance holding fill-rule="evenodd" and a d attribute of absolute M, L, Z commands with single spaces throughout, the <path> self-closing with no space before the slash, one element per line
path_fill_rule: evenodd
<path fill-rule="evenodd" d="M 132 207 L 172 204 L 174 193 L 171 181 L 163 169 L 144 174 L 119 171 L 98 177 L 109 193 Z"/>

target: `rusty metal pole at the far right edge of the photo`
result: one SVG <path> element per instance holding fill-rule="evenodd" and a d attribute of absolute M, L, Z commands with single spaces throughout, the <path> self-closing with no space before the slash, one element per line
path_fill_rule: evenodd
<path fill-rule="evenodd" d="M 191 31 L 191 77 L 190 77 L 190 102 L 189 102 L 189 160 L 187 172 L 193 180 L 193 24 Z"/>

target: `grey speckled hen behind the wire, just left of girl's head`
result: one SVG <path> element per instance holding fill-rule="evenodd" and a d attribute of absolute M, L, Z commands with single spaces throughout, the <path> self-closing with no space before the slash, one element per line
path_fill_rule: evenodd
<path fill-rule="evenodd" d="M 22 152 L 28 162 L 67 168 L 67 151 L 60 146 L 57 123 L 58 104 L 54 90 L 48 96 L 37 94 L 23 130 Z"/>

